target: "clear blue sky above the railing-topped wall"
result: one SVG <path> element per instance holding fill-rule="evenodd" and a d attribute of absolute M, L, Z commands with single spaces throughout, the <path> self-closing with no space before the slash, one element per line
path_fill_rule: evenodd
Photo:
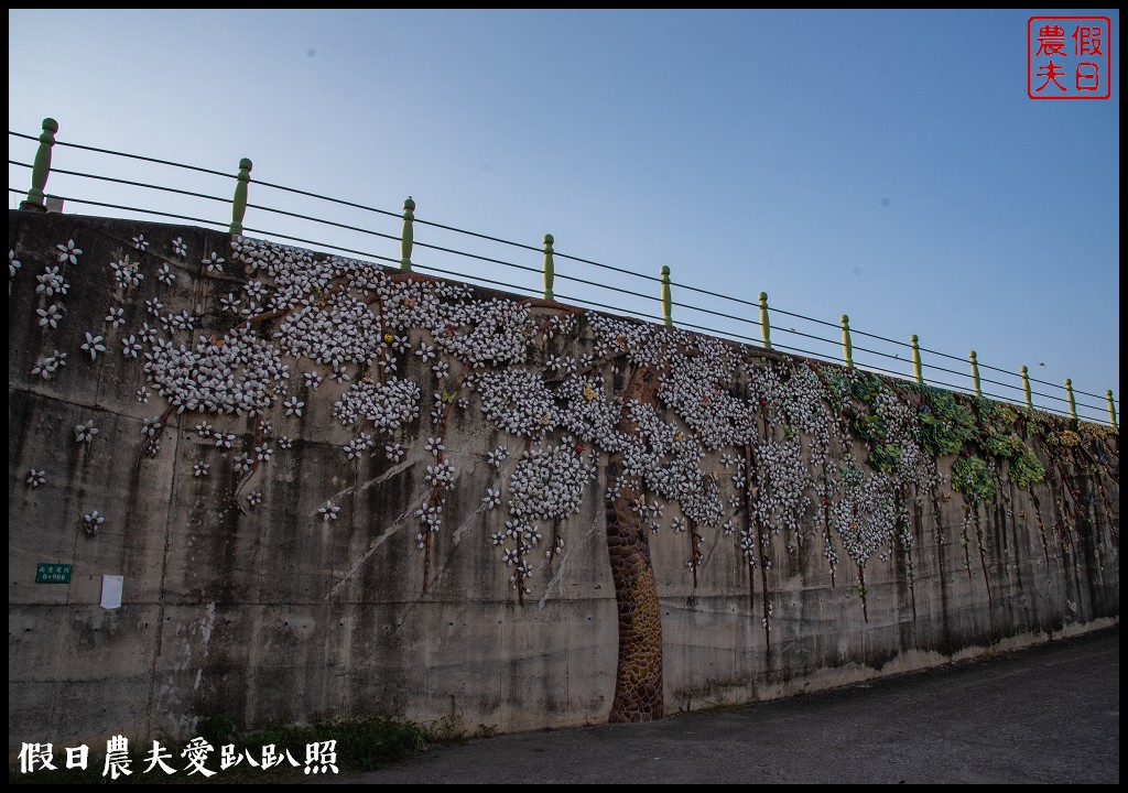
<path fill-rule="evenodd" d="M 924 354 L 942 382 L 970 386 L 970 350 L 1013 372 L 985 378 L 1012 386 L 1021 364 L 1050 384 L 1072 377 L 1101 395 L 1078 396 L 1096 408 L 1082 415 L 1105 421 L 1105 389 L 1120 395 L 1119 12 L 1060 11 L 1111 18 L 1111 98 L 1033 100 L 1026 20 L 1054 14 L 9 10 L 8 129 L 35 135 L 52 116 L 60 141 L 231 174 L 249 157 L 254 178 L 390 211 L 412 195 L 420 220 L 535 247 L 550 232 L 559 254 L 651 276 L 669 265 L 676 284 L 752 302 L 766 291 L 774 308 L 834 326 L 848 314 L 855 332 L 900 342 L 916 333 L 961 359 Z M 9 136 L 9 159 L 34 150 Z M 218 196 L 232 186 L 61 147 L 54 165 Z M 28 185 L 9 166 L 9 187 Z M 229 220 L 218 202 L 59 174 L 47 192 Z M 261 185 L 250 201 L 399 232 Z M 399 255 L 394 240 L 263 210 L 246 226 Z M 420 224 L 415 239 L 540 265 Z M 422 247 L 413 259 L 539 284 Z M 563 257 L 556 272 L 557 293 L 659 311 L 651 281 Z M 677 285 L 673 299 L 758 316 Z M 759 335 L 684 306 L 673 318 Z M 839 336 L 773 317 L 773 342 L 827 360 Z M 907 349 L 853 341 L 900 355 L 860 362 L 910 375 Z"/>

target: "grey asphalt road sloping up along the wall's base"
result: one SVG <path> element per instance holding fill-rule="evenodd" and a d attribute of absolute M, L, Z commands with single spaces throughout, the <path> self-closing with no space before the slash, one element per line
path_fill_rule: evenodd
<path fill-rule="evenodd" d="M 432 748 L 331 781 L 1119 783 L 1120 627 L 739 710 Z"/>

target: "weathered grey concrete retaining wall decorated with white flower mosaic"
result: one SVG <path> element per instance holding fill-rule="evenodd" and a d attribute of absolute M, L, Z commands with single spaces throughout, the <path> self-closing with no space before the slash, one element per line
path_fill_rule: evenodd
<path fill-rule="evenodd" d="M 199 228 L 12 212 L 9 248 L 10 747 L 600 722 L 638 652 L 656 716 L 1119 619 L 1116 432 L 959 397 L 937 459 L 934 394 L 758 347 Z"/>

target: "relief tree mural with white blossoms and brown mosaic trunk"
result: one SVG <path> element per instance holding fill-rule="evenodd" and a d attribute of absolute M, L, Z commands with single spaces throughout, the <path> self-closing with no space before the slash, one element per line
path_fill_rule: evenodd
<path fill-rule="evenodd" d="M 435 575 L 448 499 L 481 485 L 462 476 L 465 452 L 449 448 L 452 418 L 488 423 L 512 443 L 485 455 L 494 473 L 475 494 L 488 529 L 482 541 L 518 603 L 544 589 L 591 488 L 605 503 L 619 635 L 611 721 L 663 714 L 651 543 L 684 548 L 684 574 L 695 587 L 708 575 L 706 537 L 728 544 L 747 569 L 749 610 L 758 607 L 770 643 L 769 576 L 781 556 L 818 548 L 832 580 L 856 588 L 864 614 L 874 559 L 897 555 L 911 588 L 916 537 L 927 523 L 919 516 L 935 516 L 931 528 L 942 534 L 946 490 L 966 501 L 967 571 L 978 544 L 986 578 L 980 513 L 1004 483 L 1033 494 L 1047 476 L 1070 479 L 1064 467 L 1046 468 L 1031 450 L 1036 441 L 1066 460 L 1058 466 L 1092 458 L 1111 472 L 1092 429 L 1078 434 L 1040 414 L 676 327 L 246 237 L 214 250 L 152 232 L 132 243 L 115 261 L 95 262 L 69 239 L 34 274 L 9 252 L 9 294 L 15 279 L 34 275 L 44 333 L 56 329 L 73 298 L 73 268 L 104 270 L 114 296 L 103 327 L 60 341 L 38 356 L 33 376 L 50 382 L 62 367 L 97 365 L 108 355 L 135 362 L 144 379 L 136 399 L 155 409 L 136 466 L 160 453 L 175 416 L 192 414 L 197 438 L 223 453 L 194 461 L 192 476 L 230 466 L 231 497 L 243 510 L 263 503 L 255 483 L 272 460 L 298 451 L 271 425 L 271 412 L 287 421 L 331 415 L 351 435 L 342 459 L 358 464 L 373 456 L 398 464 L 405 447 L 422 446 L 426 461 L 412 474 L 423 484 L 417 556 L 404 561 L 418 566 L 422 591 Z M 219 290 L 203 315 L 165 305 L 186 273 L 197 289 Z M 321 390 L 326 381 L 337 396 Z M 245 432 L 213 425 L 231 416 L 246 422 Z M 74 442 L 88 450 L 97 432 L 87 421 L 74 428 Z M 954 467 L 943 461 L 952 456 Z M 26 473 L 27 487 L 43 483 L 43 470 Z M 1066 503 L 1052 511 L 1049 535 L 1049 513 L 1037 516 L 1047 555 L 1051 543 L 1070 547 L 1085 520 L 1082 496 L 1066 484 L 1058 491 Z M 1096 497 L 1110 511 L 1108 493 Z M 316 518 L 332 523 L 347 514 L 326 493 Z M 107 518 L 94 511 L 82 520 L 95 532 Z"/>

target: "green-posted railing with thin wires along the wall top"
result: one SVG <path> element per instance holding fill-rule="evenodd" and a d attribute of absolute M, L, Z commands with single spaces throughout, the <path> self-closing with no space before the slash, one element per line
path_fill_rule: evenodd
<path fill-rule="evenodd" d="M 26 197 L 20 202 L 20 209 L 46 211 L 49 204 L 54 203 L 58 205 L 58 202 L 63 202 L 95 206 L 103 210 L 114 210 L 117 213 L 168 218 L 221 228 L 227 227 L 231 234 L 258 235 L 264 238 L 298 243 L 386 263 L 398 266 L 400 270 L 418 270 L 455 276 L 473 283 L 500 287 L 519 293 L 535 294 L 546 300 L 572 302 L 618 314 L 627 314 L 650 321 L 662 323 L 663 325 L 673 324 L 673 309 L 677 308 L 679 309 L 679 314 L 682 311 L 694 312 L 691 316 L 695 319 L 698 316 L 714 318 L 713 321 L 708 319 L 702 320 L 708 321 L 708 325 L 685 321 L 679 318 L 679 327 L 700 331 L 735 341 L 750 342 L 766 349 L 782 350 L 812 359 L 840 360 L 847 368 L 856 367 L 897 378 L 911 379 L 920 385 L 948 388 L 975 396 L 1023 405 L 1028 408 L 1038 408 L 1074 420 L 1108 422 L 1112 426 L 1118 426 L 1118 402 L 1114 399 L 1111 390 L 1107 390 L 1103 395 L 1098 395 L 1074 388 L 1073 382 L 1068 378 L 1063 385 L 1041 380 L 1031 377 L 1030 370 L 1025 365 L 1021 367 L 1019 372 L 1015 373 L 1006 369 L 980 363 L 973 351 L 967 358 L 963 358 L 924 347 L 920 346 L 919 340 L 915 334 L 909 336 L 908 342 L 904 342 L 866 333 L 851 327 L 847 315 L 843 315 L 838 323 L 834 323 L 769 305 L 768 296 L 765 292 L 760 292 L 758 299 L 752 301 L 673 281 L 670 277 L 670 268 L 668 266 L 663 266 L 658 275 L 647 275 L 589 258 L 564 254 L 556 250 L 556 240 L 552 235 L 545 235 L 541 245 L 534 246 L 420 219 L 415 217 L 415 201 L 411 196 L 404 201 L 402 211 L 394 212 L 310 191 L 273 184 L 257 178 L 253 179 L 250 176 L 253 164 L 249 159 L 240 160 L 236 173 L 231 174 L 171 160 L 60 141 L 55 139 L 58 131 L 58 123 L 54 120 L 45 118 L 42 132 L 37 138 L 10 130 L 8 132 L 11 140 L 37 142 L 37 147 L 32 156 L 32 162 L 20 162 L 10 158 L 8 160 L 9 166 L 26 168 L 32 171 L 30 188 L 26 191 Z M 124 158 L 132 160 L 134 164 L 146 164 L 147 166 L 155 165 L 162 168 L 176 168 L 180 169 L 182 175 L 191 174 L 193 176 L 218 177 L 228 180 L 228 183 L 233 180 L 235 185 L 233 190 L 228 185 L 231 197 L 227 197 L 226 195 L 212 195 L 210 193 L 184 190 L 183 187 L 169 187 L 167 185 L 136 179 L 125 179 L 103 174 L 61 168 L 52 161 L 55 147 L 63 147 L 76 152 L 87 152 L 91 156 Z M 68 165 L 70 164 L 68 162 Z M 49 195 L 46 193 L 46 184 L 51 176 L 56 176 L 56 180 L 58 177 L 65 177 L 68 179 L 68 188 L 73 185 L 79 191 L 68 195 L 59 193 Z M 193 217 L 182 212 L 164 212 L 149 206 L 99 201 L 82 192 L 83 187 L 91 186 L 95 183 L 103 185 L 104 191 L 106 186 L 114 186 L 115 190 L 156 191 L 209 203 L 203 204 L 206 206 L 203 211 L 205 217 Z M 249 201 L 252 190 L 256 194 L 259 191 L 274 191 L 274 194 L 282 194 L 288 199 L 306 202 L 309 200 L 325 202 L 334 205 L 338 213 L 345 211 L 361 212 L 363 213 L 362 220 L 358 221 L 358 223 L 345 223 L 338 220 L 319 218 L 307 212 L 270 206 L 263 203 L 252 203 Z M 24 190 L 14 186 L 9 186 L 8 192 L 16 195 L 25 195 Z M 70 193 L 69 190 L 67 192 Z M 133 194 L 131 193 L 130 195 L 132 197 Z M 147 204 L 148 201 L 141 201 L 140 203 Z M 223 209 L 220 210 L 217 204 L 222 205 Z M 217 215 L 222 217 L 220 215 L 221 212 L 226 214 L 227 208 L 230 208 L 230 221 L 217 220 Z M 328 228 L 338 235 L 347 235 L 350 238 L 355 238 L 360 241 L 343 245 L 344 239 L 332 243 L 307 236 L 297 236 L 292 234 L 296 230 L 294 228 L 290 228 L 289 232 L 279 232 L 264 228 L 247 227 L 244 224 L 244 221 L 248 210 L 254 211 L 255 218 L 281 217 L 285 218 L 288 226 L 291 227 L 299 224 L 300 228 L 311 228 L 321 231 Z M 382 223 L 387 230 L 376 228 L 378 223 Z M 415 238 L 416 227 L 426 229 L 429 232 L 428 237 L 417 240 Z M 312 234 L 316 235 L 317 231 Z M 456 241 L 450 245 L 440 245 L 439 241 L 444 237 L 450 237 Z M 380 246 L 384 246 L 384 253 L 367 249 L 370 246 L 364 245 L 363 240 L 372 241 L 373 238 Z M 395 247 L 388 250 L 387 248 L 391 244 Z M 474 246 L 486 247 L 479 247 L 477 250 L 465 249 Z M 395 253 L 396 247 L 398 247 L 399 256 L 388 255 L 389 253 Z M 486 248 L 488 248 L 488 255 L 483 253 Z M 433 252 L 435 255 L 434 262 L 446 266 L 423 264 L 415 261 L 413 256 L 416 255 L 417 249 Z M 509 250 L 511 255 L 502 257 L 502 254 L 496 253 L 499 249 Z M 534 258 L 534 254 L 536 258 Z M 510 258 L 521 259 L 522 257 L 527 263 L 510 261 Z M 423 258 L 426 259 L 428 256 Z M 538 259 L 539 266 L 534 266 L 531 263 Z M 574 267 L 567 266 L 563 272 L 557 272 L 556 264 L 558 261 L 564 261 L 569 265 L 574 265 Z M 525 282 L 513 283 L 508 280 L 487 277 L 481 272 L 482 264 L 496 265 L 505 267 L 506 271 L 523 274 L 515 275 L 515 279 L 518 281 L 523 280 Z M 596 279 L 597 274 L 599 276 L 598 280 Z M 584 292 L 582 294 L 562 294 L 556 291 L 557 280 L 580 284 L 587 289 L 582 290 Z M 616 283 L 611 283 L 611 281 L 616 281 Z M 539 285 L 532 285 L 537 282 L 539 282 Z M 645 282 L 647 292 L 638 291 L 643 289 L 640 282 Z M 605 297 L 608 292 L 611 293 L 610 297 Z M 655 293 L 658 297 L 656 301 L 654 299 Z M 672 296 L 675 293 L 679 294 L 679 300 L 673 300 Z M 710 305 L 698 306 L 691 302 L 684 302 L 680 299 L 681 294 L 703 296 L 708 299 L 706 302 Z M 730 307 L 730 310 L 722 310 L 725 306 Z M 725 327 L 714 327 L 717 324 L 716 319 L 723 320 L 722 324 L 728 323 L 728 325 Z M 773 321 L 775 321 L 775 326 L 773 326 Z M 804 323 L 808 327 L 807 331 L 800 331 L 795 327 L 796 324 L 802 325 Z M 830 328 L 837 333 L 834 333 L 828 338 L 826 334 L 830 333 L 830 331 L 826 328 Z M 820 333 L 823 335 L 820 335 Z M 775 334 L 775 338 L 773 338 L 773 334 Z M 785 342 L 790 343 L 781 343 L 781 336 L 784 337 Z M 856 345 L 854 344 L 855 336 L 862 340 L 872 340 L 872 342 L 876 342 L 878 344 L 865 341 L 865 346 Z M 887 350 L 875 349 L 879 344 L 885 345 Z M 822 345 L 822 349 L 818 351 L 807 349 L 817 345 Z M 829 350 L 826 345 L 829 345 Z M 893 352 L 889 352 L 888 349 L 892 349 Z M 858 353 L 862 354 L 861 358 L 858 358 Z M 928 355 L 932 360 L 925 363 L 923 359 L 924 354 Z M 966 364 L 967 369 L 953 369 L 954 364 L 952 362 Z M 911 372 L 899 371 L 890 367 L 910 367 Z M 925 370 L 928 372 L 927 378 L 925 377 Z M 982 375 L 980 370 L 988 375 Z M 952 376 L 959 378 L 959 380 L 952 382 L 950 378 L 940 379 L 937 373 Z M 984 390 L 985 384 L 998 389 L 1005 389 L 1008 393 L 1001 394 L 995 390 Z M 1034 389 L 1036 385 L 1038 390 Z M 1089 402 L 1078 402 L 1078 396 L 1092 398 L 1098 402 L 1103 399 L 1105 404 L 1101 406 Z M 1038 400 L 1036 400 L 1036 397 L 1038 397 Z"/>

